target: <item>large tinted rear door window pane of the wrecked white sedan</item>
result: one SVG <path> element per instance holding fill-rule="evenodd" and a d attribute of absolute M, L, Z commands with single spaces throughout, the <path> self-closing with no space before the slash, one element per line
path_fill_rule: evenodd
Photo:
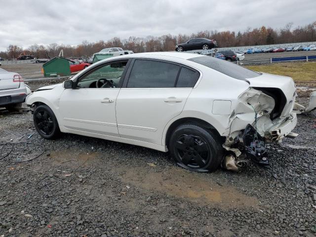
<path fill-rule="evenodd" d="M 128 88 L 174 87 L 180 66 L 154 60 L 135 60 L 130 72 Z"/>

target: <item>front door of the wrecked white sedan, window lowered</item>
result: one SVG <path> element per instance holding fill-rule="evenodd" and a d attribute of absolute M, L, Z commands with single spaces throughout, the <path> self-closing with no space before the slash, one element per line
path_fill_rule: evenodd
<path fill-rule="evenodd" d="M 75 89 L 65 89 L 60 112 L 67 129 L 118 136 L 116 102 L 127 60 L 92 68 L 78 79 Z"/>

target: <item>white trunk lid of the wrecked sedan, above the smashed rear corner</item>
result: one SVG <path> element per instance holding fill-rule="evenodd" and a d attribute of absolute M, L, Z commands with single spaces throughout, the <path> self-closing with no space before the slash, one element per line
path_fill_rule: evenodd
<path fill-rule="evenodd" d="M 247 78 L 251 87 L 279 88 L 283 91 L 287 101 L 293 99 L 296 92 L 294 81 L 290 77 L 262 73 L 256 78 Z"/>

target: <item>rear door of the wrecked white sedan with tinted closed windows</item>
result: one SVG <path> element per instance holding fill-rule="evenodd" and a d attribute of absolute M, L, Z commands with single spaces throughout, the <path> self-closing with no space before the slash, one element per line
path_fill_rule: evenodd
<path fill-rule="evenodd" d="M 120 137 L 161 145 L 167 122 L 178 116 L 199 73 L 182 65 L 134 59 L 117 98 Z"/>

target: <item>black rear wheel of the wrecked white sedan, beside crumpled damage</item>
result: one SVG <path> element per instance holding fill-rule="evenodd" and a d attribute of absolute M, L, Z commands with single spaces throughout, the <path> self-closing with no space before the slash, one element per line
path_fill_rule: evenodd
<path fill-rule="evenodd" d="M 194 123 L 178 126 L 169 140 L 169 151 L 177 164 L 197 172 L 215 171 L 223 158 L 219 137 Z"/>

